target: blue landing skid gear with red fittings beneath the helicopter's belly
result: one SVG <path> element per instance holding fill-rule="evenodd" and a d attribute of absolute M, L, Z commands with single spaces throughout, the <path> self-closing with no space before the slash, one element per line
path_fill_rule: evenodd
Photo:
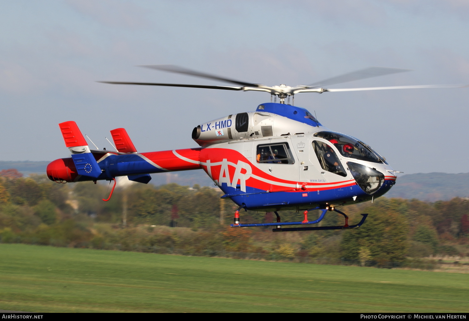
<path fill-rule="evenodd" d="M 231 224 L 232 227 L 259 227 L 259 226 L 275 226 L 275 229 L 272 229 L 272 232 L 287 232 L 287 231 L 312 231 L 312 230 L 321 230 L 321 229 L 355 229 L 357 227 L 362 226 L 363 222 L 365 222 L 366 217 L 368 214 L 362 214 L 362 220 L 356 225 L 348 225 L 348 216 L 338 209 L 335 209 L 333 206 L 326 206 L 325 208 L 315 207 L 303 212 L 304 220 L 302 222 L 280 222 L 280 216 L 277 212 L 274 212 L 277 215 L 277 222 L 275 223 L 255 223 L 255 224 L 241 224 L 239 218 L 239 210 L 240 207 L 236 212 L 234 212 L 234 224 Z M 321 209 L 322 213 L 317 220 L 308 221 L 308 212 L 316 209 Z M 327 211 L 334 211 L 339 214 L 342 214 L 345 217 L 345 224 L 343 226 L 318 226 L 318 227 L 297 227 L 297 228 L 286 228 L 283 229 L 282 226 L 284 225 L 309 225 L 309 224 L 316 224 L 321 222 L 324 218 L 324 215 Z"/>

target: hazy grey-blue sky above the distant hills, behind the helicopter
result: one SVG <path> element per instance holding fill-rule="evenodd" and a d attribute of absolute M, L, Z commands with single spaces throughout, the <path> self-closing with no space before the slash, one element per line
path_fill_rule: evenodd
<path fill-rule="evenodd" d="M 380 66 L 413 71 L 330 87 L 469 84 L 468 35 L 467 0 L 0 0 L 0 160 L 69 157 L 70 120 L 99 148 L 120 127 L 139 152 L 197 147 L 198 124 L 270 101 L 96 82 L 230 85 L 138 65 L 290 86 Z M 295 96 L 406 174 L 469 172 L 468 103 L 469 88 Z"/>

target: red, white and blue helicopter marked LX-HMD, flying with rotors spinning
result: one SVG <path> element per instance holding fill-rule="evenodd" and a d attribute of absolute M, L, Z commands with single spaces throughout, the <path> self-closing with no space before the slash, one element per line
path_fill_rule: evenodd
<path fill-rule="evenodd" d="M 100 83 L 259 91 L 270 93 L 271 101 L 258 105 L 253 112 L 227 115 L 198 124 L 192 130 L 192 139 L 199 147 L 170 151 L 139 153 L 123 128 L 111 130 L 116 152 L 99 150 L 96 145 L 93 150 L 76 122 L 62 122 L 59 127 L 71 158 L 49 163 L 46 169 L 48 178 L 57 183 L 113 181 L 109 197 L 103 199 L 108 201 L 116 186 L 117 176 L 128 176 L 130 181 L 149 183 L 150 174 L 153 173 L 203 169 L 223 191 L 222 198 L 229 198 L 238 206 L 232 227 L 272 226 L 273 232 L 360 227 L 368 214 L 362 214 L 357 224 L 349 225 L 348 215 L 337 207 L 373 201 L 389 191 L 396 183 L 397 173 L 401 173 L 395 171 L 386 158 L 370 145 L 328 129 L 307 109 L 295 106 L 295 94 L 469 86 L 325 87 L 409 71 L 386 67 L 370 67 L 295 87 L 254 84 L 174 65 L 142 67 L 224 81 L 236 86 L 115 81 Z M 272 97 L 275 99 L 273 102 Z M 273 212 L 276 222 L 243 224 L 240 219 L 240 211 L 243 209 Z M 280 210 L 303 211 L 303 221 L 281 222 Z M 309 220 L 308 213 L 313 210 L 321 210 L 321 214 L 317 219 Z M 345 224 L 310 226 L 320 222 L 328 211 L 343 215 Z"/>

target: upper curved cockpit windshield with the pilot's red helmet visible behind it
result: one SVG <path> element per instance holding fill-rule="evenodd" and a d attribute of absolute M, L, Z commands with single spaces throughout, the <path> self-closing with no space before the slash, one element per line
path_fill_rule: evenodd
<path fill-rule="evenodd" d="M 373 151 L 370 146 L 351 136 L 332 131 L 320 131 L 315 133 L 314 136 L 330 141 L 343 157 L 387 164 L 386 159 Z"/>

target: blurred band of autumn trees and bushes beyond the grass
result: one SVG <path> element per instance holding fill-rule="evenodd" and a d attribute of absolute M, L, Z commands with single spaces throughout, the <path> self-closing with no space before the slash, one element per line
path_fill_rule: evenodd
<path fill-rule="evenodd" d="M 123 185 L 127 187 L 116 188 L 111 200 L 103 202 L 110 191 L 106 184 L 58 184 L 42 175 L 2 170 L 0 242 L 190 255 L 257 253 L 271 260 L 327 257 L 382 267 L 469 252 L 468 199 L 429 203 L 381 197 L 341 208 L 352 224 L 360 214 L 369 214 L 358 229 L 272 233 L 271 228 L 230 228 L 236 206 L 220 199 L 218 189 Z M 295 211 L 280 215 L 282 221 L 302 219 Z M 241 220 L 275 222 L 275 215 L 242 211 Z M 343 217 L 328 212 L 321 224 L 340 225 Z"/>

